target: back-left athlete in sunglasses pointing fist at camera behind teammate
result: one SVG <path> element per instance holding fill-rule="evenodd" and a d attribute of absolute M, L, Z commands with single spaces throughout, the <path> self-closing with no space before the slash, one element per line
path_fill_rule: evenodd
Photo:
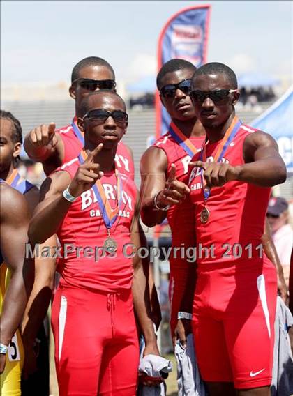
<path fill-rule="evenodd" d="M 40 125 L 24 139 L 29 157 L 43 163 L 45 174 L 76 158 L 84 147 L 84 133 L 78 128 L 77 117 L 82 116 L 80 104 L 89 93 L 99 89 L 115 90 L 115 74 L 105 59 L 90 56 L 73 68 L 69 93 L 75 100 L 75 117 L 72 123 L 55 131 L 55 124 Z M 133 155 L 130 148 L 119 142 L 115 156 L 117 167 L 134 178 Z"/>

